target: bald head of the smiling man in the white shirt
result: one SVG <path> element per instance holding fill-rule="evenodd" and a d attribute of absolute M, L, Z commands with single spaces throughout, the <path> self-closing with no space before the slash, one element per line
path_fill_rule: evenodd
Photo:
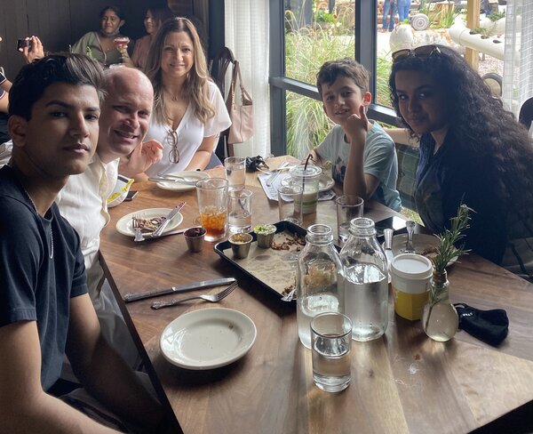
<path fill-rule="evenodd" d="M 143 141 L 154 102 L 150 80 L 139 69 L 110 68 L 99 118 L 97 152 L 104 163 L 131 154 Z"/>

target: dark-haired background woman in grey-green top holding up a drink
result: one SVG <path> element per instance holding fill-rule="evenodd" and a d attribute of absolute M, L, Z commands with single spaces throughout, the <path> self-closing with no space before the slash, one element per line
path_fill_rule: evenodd
<path fill-rule="evenodd" d="M 121 52 L 115 47 L 115 37 L 123 36 L 120 28 L 126 22 L 123 13 L 116 6 L 105 6 L 99 13 L 99 31 L 89 32 L 72 46 L 72 52 L 86 54 L 98 60 L 104 67 L 121 62 Z M 125 37 L 125 36 L 124 36 Z M 130 46 L 132 41 L 128 44 Z"/>

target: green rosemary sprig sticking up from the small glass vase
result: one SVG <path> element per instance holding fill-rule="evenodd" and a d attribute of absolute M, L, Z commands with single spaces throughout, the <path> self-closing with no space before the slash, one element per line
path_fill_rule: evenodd
<path fill-rule="evenodd" d="M 465 250 L 465 244 L 457 245 L 457 242 L 465 237 L 463 232 L 470 226 L 470 212 L 474 212 L 472 208 L 466 205 L 459 205 L 457 208 L 457 216 L 449 219 L 451 221 L 451 228 L 445 229 L 441 235 L 437 237 L 441 240 L 437 247 L 437 255 L 434 258 L 434 269 L 437 272 L 442 272 L 446 269 L 448 262 L 456 256 L 468 254 L 470 250 Z"/>

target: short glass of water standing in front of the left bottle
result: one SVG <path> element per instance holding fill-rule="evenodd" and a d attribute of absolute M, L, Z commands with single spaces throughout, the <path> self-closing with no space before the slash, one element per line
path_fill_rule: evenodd
<path fill-rule="evenodd" d="M 338 312 L 325 312 L 311 320 L 313 381 L 327 392 L 345 390 L 352 380 L 350 350 L 352 321 Z"/>

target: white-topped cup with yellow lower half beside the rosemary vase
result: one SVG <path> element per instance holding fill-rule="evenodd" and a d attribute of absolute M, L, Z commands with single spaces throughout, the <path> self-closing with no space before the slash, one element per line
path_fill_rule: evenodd
<path fill-rule="evenodd" d="M 432 262 L 421 254 L 398 254 L 391 261 L 390 273 L 394 311 L 406 319 L 420 319 L 427 302 L 428 284 L 433 275 Z"/>

